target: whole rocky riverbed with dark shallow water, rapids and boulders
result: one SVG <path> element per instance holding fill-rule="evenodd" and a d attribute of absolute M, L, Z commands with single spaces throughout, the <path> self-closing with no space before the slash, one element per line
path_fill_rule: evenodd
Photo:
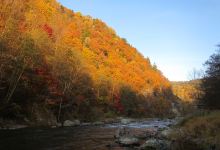
<path fill-rule="evenodd" d="M 121 118 L 115 123 L 67 121 L 69 127 L 0 130 L 0 149 L 165 150 L 170 148 L 168 135 L 176 122 L 176 119 Z"/>

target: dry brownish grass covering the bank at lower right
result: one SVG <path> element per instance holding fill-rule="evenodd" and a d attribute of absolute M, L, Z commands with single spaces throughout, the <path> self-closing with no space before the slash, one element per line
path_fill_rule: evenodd
<path fill-rule="evenodd" d="M 184 119 L 171 135 L 174 149 L 220 149 L 220 111 L 200 112 Z"/>

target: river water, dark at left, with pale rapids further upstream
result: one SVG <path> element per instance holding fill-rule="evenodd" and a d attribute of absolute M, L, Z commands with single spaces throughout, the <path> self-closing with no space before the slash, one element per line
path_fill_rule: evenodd
<path fill-rule="evenodd" d="M 168 128 L 173 123 L 172 120 L 148 120 L 126 125 L 0 130 L 0 150 L 124 150 L 128 148 L 109 147 L 119 127 L 130 128 L 132 134 L 142 136 L 148 129 Z"/>

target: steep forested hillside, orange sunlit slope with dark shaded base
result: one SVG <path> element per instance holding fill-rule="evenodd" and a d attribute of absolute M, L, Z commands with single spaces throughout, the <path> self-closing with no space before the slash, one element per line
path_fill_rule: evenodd
<path fill-rule="evenodd" d="M 165 116 L 172 98 L 149 58 L 101 20 L 55 0 L 0 2 L 2 118 Z"/>

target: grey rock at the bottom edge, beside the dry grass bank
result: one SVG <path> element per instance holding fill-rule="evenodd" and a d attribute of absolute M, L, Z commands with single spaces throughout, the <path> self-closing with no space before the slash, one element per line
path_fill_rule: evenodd
<path fill-rule="evenodd" d="M 170 142 L 166 140 L 149 139 L 140 146 L 141 150 L 169 150 Z"/>

